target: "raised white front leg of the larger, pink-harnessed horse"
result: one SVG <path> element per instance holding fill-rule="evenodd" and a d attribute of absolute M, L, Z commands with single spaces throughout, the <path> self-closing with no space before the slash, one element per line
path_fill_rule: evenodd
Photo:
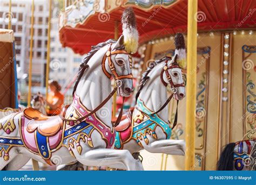
<path fill-rule="evenodd" d="M 93 149 L 79 155 L 77 149 L 72 150 L 76 159 L 86 166 L 107 166 L 127 170 L 143 170 L 142 163 L 133 159 L 128 150 Z"/>

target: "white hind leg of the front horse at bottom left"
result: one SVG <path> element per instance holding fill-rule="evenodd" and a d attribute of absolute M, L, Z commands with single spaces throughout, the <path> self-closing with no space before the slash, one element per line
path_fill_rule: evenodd
<path fill-rule="evenodd" d="M 6 166 L 6 170 L 18 170 L 21 169 L 30 160 L 30 157 L 23 154 L 18 154 L 12 159 L 11 162 Z"/>

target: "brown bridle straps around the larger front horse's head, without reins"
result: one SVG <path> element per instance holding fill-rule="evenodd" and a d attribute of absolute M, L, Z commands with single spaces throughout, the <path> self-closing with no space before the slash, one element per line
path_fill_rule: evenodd
<path fill-rule="evenodd" d="M 111 78 L 111 74 L 109 72 L 107 72 L 107 70 L 106 70 L 105 61 L 107 59 L 107 61 L 109 63 L 109 68 L 110 68 L 115 80 L 120 80 L 120 79 L 124 79 L 124 78 L 133 79 L 132 73 L 126 74 L 126 75 L 118 75 L 117 74 L 116 68 L 114 67 L 114 64 L 111 60 L 111 55 L 112 54 L 128 54 L 129 55 L 130 68 L 132 68 L 132 57 L 131 57 L 130 53 L 127 53 L 125 50 L 111 51 L 111 44 L 110 44 L 109 49 L 107 50 L 107 52 L 104 55 L 103 60 L 102 60 L 102 69 L 103 69 L 103 72 L 106 74 L 106 76 L 108 78 Z"/>

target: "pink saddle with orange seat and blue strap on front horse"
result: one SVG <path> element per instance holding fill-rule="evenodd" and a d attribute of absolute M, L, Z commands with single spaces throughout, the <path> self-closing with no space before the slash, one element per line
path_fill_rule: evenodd
<path fill-rule="evenodd" d="M 58 116 L 48 117 L 41 112 L 28 107 L 24 109 L 21 121 L 21 136 L 24 145 L 31 152 L 49 160 L 51 151 L 57 149 L 62 141 L 63 120 Z"/>

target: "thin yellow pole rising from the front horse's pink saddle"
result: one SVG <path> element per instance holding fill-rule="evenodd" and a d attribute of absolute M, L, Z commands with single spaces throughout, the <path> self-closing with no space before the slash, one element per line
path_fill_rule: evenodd
<path fill-rule="evenodd" d="M 30 107 L 31 102 L 31 85 L 32 85 L 32 50 L 33 50 L 33 25 L 34 25 L 34 10 L 35 3 L 32 0 L 32 10 L 31 10 L 31 28 L 30 28 L 30 52 L 29 52 L 29 90 L 28 90 L 28 106 Z M 36 160 L 32 159 L 33 170 L 39 170 L 39 165 Z"/>

